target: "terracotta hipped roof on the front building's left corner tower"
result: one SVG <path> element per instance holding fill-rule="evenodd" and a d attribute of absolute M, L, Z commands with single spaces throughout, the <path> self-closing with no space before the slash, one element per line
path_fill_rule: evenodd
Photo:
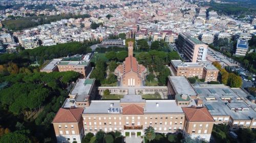
<path fill-rule="evenodd" d="M 60 108 L 52 123 L 78 122 L 82 116 L 83 108 L 64 109 Z"/>

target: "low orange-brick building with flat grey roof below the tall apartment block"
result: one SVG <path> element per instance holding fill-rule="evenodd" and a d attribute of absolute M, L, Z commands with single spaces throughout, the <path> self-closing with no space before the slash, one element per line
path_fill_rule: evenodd
<path fill-rule="evenodd" d="M 181 60 L 170 61 L 170 69 L 174 76 L 198 77 L 205 81 L 217 81 L 219 70 L 209 61 L 185 63 Z"/>

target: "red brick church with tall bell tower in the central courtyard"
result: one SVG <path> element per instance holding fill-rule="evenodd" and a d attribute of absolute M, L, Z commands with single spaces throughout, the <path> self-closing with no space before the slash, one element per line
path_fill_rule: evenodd
<path fill-rule="evenodd" d="M 143 65 L 139 65 L 133 56 L 133 42 L 128 42 L 128 57 L 115 69 L 115 75 L 120 81 L 120 86 L 140 87 L 143 85 L 142 81 L 147 75 L 147 70 Z"/>

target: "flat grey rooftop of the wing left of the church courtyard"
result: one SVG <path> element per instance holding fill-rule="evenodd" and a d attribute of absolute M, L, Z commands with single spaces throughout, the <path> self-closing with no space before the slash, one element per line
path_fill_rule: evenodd
<path fill-rule="evenodd" d="M 94 79 L 79 78 L 75 87 L 70 92 L 71 95 L 89 95 L 91 92 Z"/>

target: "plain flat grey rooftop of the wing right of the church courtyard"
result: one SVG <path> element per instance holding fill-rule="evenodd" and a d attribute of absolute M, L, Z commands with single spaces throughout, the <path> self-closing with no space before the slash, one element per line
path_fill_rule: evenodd
<path fill-rule="evenodd" d="M 196 92 L 191 87 L 190 83 L 184 76 L 169 76 L 170 82 L 174 86 L 177 94 L 186 94 L 190 96 L 196 96 Z"/>

